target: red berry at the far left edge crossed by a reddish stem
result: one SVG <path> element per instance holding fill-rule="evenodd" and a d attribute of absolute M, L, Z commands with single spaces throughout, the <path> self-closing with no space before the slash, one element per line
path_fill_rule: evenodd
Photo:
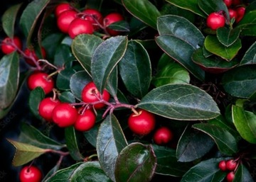
<path fill-rule="evenodd" d="M 1 51 L 4 52 L 4 54 L 6 55 L 14 52 L 16 50 L 16 47 L 11 44 L 15 44 L 20 50 L 22 49 L 21 39 L 18 37 L 14 37 L 13 40 L 11 38 L 4 38 L 4 40 L 1 42 Z"/>

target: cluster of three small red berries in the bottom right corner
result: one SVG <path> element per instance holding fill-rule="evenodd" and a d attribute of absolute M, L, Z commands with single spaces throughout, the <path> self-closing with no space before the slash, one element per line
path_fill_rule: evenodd
<path fill-rule="evenodd" d="M 226 179 L 228 182 L 232 182 L 235 178 L 235 169 L 238 167 L 237 161 L 229 159 L 228 161 L 220 161 L 218 167 L 221 171 L 228 171 Z"/>

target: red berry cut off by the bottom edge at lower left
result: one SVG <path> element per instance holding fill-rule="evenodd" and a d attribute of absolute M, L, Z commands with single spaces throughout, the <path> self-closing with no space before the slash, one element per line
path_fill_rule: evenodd
<path fill-rule="evenodd" d="M 25 166 L 19 174 L 21 182 L 39 182 L 42 178 L 41 171 L 36 166 Z"/>

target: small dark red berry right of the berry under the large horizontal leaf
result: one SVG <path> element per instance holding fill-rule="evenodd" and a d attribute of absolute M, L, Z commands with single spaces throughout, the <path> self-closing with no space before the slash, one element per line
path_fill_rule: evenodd
<path fill-rule="evenodd" d="M 156 130 L 153 140 L 156 144 L 167 144 L 174 138 L 173 132 L 168 127 L 160 127 Z"/>

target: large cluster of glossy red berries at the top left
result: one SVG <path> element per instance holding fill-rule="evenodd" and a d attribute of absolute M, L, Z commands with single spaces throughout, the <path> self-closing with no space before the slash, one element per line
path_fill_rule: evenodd
<path fill-rule="evenodd" d="M 107 26 L 124 20 L 119 13 L 110 13 L 103 17 L 96 9 L 87 8 L 80 12 L 68 3 L 56 6 L 55 17 L 58 28 L 63 33 L 68 33 L 70 38 L 80 34 L 92 34 L 97 30 L 104 30 L 109 35 L 119 35 L 118 31 L 111 30 Z"/>

